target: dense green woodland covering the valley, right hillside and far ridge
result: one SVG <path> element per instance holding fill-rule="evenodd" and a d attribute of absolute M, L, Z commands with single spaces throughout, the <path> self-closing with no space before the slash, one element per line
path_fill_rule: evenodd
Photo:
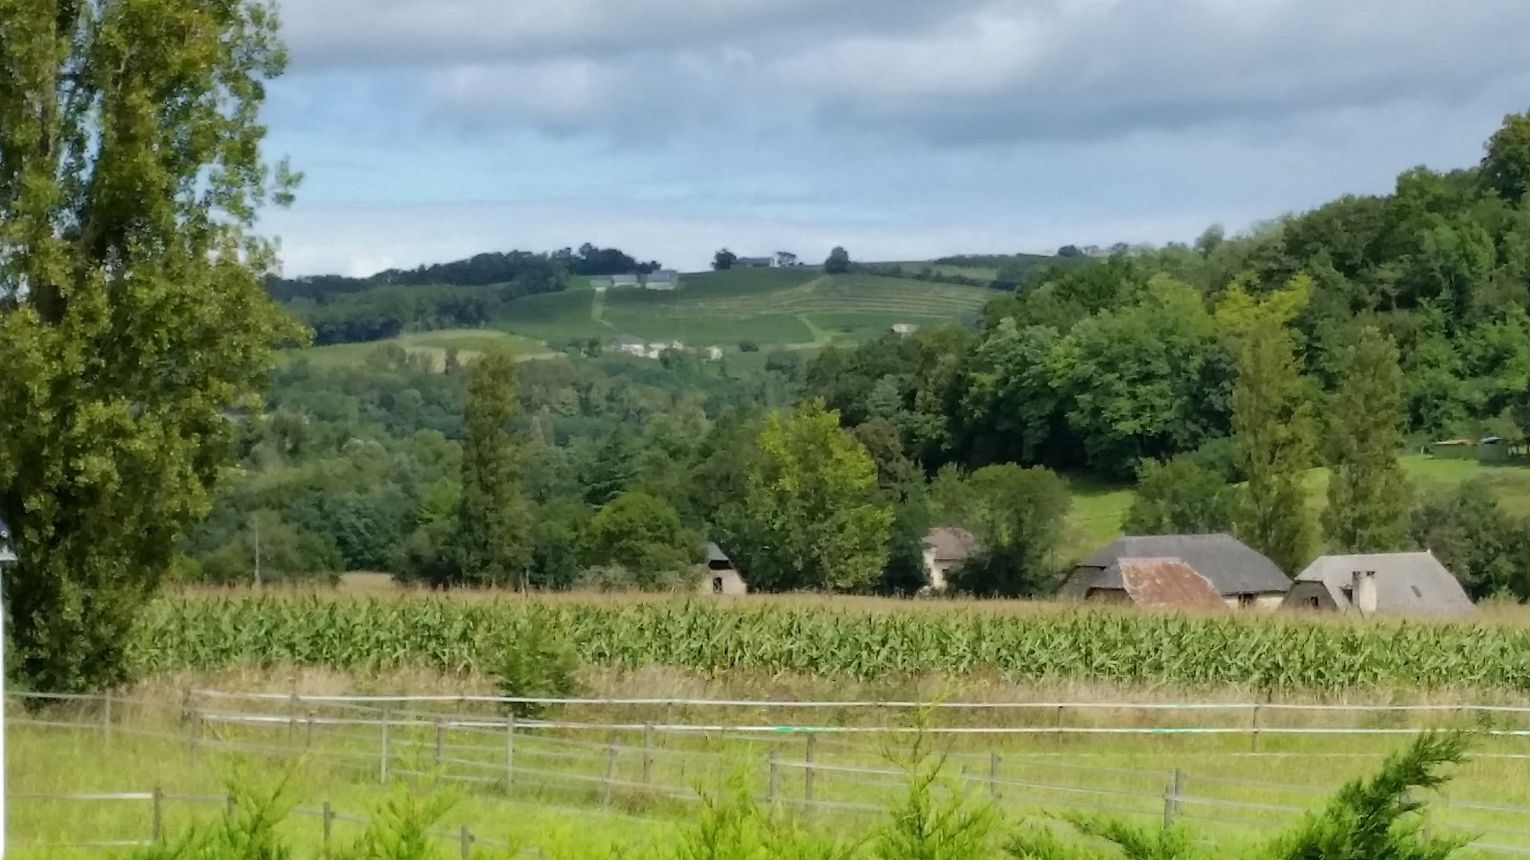
<path fill-rule="evenodd" d="M 1434 439 L 1525 439 L 1530 119 L 1486 150 L 1247 234 L 1069 256 L 996 294 L 973 329 L 763 369 L 571 353 L 442 375 L 387 347 L 353 369 L 297 360 L 248 416 L 185 572 L 248 581 L 259 531 L 271 578 L 667 588 L 711 539 L 754 588 L 912 592 L 924 531 L 961 525 L 982 549 L 955 588 L 1037 594 L 1066 562 L 1059 473 L 1089 473 L 1138 482 L 1132 531 L 1232 529 L 1293 574 L 1325 548 L 1429 546 L 1475 595 L 1530 597 L 1530 526 L 1480 485 L 1415 499 L 1397 465 Z M 560 256 L 480 265 L 506 268 L 462 277 L 578 271 Z M 350 294 L 444 280 L 425 272 L 272 291 L 317 320 Z M 1319 465 L 1320 516 L 1300 496 Z"/>

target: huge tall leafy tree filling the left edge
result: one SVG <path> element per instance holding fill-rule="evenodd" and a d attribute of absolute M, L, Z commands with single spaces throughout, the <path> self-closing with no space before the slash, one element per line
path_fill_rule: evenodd
<path fill-rule="evenodd" d="M 125 681 L 124 649 L 300 332 L 251 231 L 286 55 L 259 0 L 0 3 L 0 516 L 9 669 Z"/>

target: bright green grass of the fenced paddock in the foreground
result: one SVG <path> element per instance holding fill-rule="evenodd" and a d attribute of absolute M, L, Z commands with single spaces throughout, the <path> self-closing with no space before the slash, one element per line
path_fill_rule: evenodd
<path fill-rule="evenodd" d="M 387 745 L 393 785 L 384 788 L 378 785 L 382 735 L 364 724 L 376 719 L 376 709 L 318 713 L 320 718 L 363 721 L 349 725 L 308 728 L 304 715 L 298 715 L 294 725 L 211 721 L 197 735 L 181 722 L 176 696 L 161 704 L 164 707 L 118 710 L 110 739 L 89 725 L 99 725 L 99 715 L 90 710 L 44 716 L 61 724 L 87 724 L 75 728 L 12 722 L 9 777 L 18 797 L 9 808 L 8 831 L 14 857 L 86 857 L 84 851 L 67 846 L 84 840 L 145 839 L 151 829 L 151 803 L 145 800 L 55 800 L 28 794 L 159 788 L 171 797 L 162 806 L 164 834 L 174 837 L 196 823 L 217 820 L 225 808 L 219 797 L 226 794 L 230 782 L 263 790 L 262 794 L 285 783 L 283 797 L 297 810 L 286 817 L 280 832 L 300 849 L 298 855 L 315 855 L 323 843 L 323 820 L 315 814 L 323 803 L 330 803 L 340 816 L 375 817 L 390 794 L 413 794 L 454 799 L 435 828 L 445 837 L 436 843 L 442 857 L 457 855 L 450 834 L 467 825 L 479 837 L 540 848 L 546 857 L 614 857 L 614 849 L 623 849 L 620 855 L 641 858 L 647 849 L 672 846 L 678 834 L 693 826 L 696 806 L 679 797 L 695 797 L 696 791 L 716 794 L 734 774 L 754 796 L 777 797 L 783 814 L 791 817 L 797 817 L 797 805 L 811 791 L 820 808 L 803 823 L 817 831 L 866 837 L 886 820 L 880 810 L 904 793 L 897 756 L 909 744 L 906 735 L 819 736 L 811 742 L 819 770 L 806 777 L 802 765 L 809 741 L 800 733 L 655 731 L 644 739 L 643 731 L 522 728 L 514 741 L 514 791 L 506 797 L 502 780 L 506 733 L 494 728 L 503 719 L 494 712 L 471 707 L 464 712 L 462 705 L 450 702 L 412 705 L 427 713 L 416 718 L 415 728 L 392 730 Z M 252 707 L 228 702 L 222 710 L 248 712 Z M 283 702 L 269 707 L 271 713 L 286 709 Z M 1089 719 L 1099 725 L 1161 728 L 1233 725 L 1233 721 L 1247 719 L 1241 713 L 1221 718 L 1215 713 L 1121 707 L 1089 718 L 1074 715 L 1068 722 Z M 435 715 L 448 721 L 474 719 L 479 727 L 433 730 Z M 600 725 L 609 716 L 565 718 Z M 759 719 L 771 716 L 780 715 Z M 842 724 L 834 712 L 815 716 L 820 725 Z M 907 715 L 886 716 L 889 725 L 900 725 Z M 678 718 L 681 722 L 722 724 L 737 719 L 716 712 Z M 1028 724 L 994 715 L 981 719 L 987 719 L 987 725 Z M 1050 721 L 1050 712 L 1040 719 Z M 1304 725 L 1279 712 L 1267 719 L 1270 722 L 1261 724 L 1267 730 Z M 1440 719 L 1449 722 L 1450 718 Z M 1334 722 L 1334 718 L 1323 718 L 1323 722 Z M 1363 716 L 1340 716 L 1336 724 L 1400 725 L 1368 722 Z M 188 742 L 193 736 L 200 742 Z M 946 777 L 970 791 L 973 802 L 991 802 L 1001 816 L 1001 832 L 1022 817 L 1079 808 L 1151 825 L 1161 819 L 1166 785 L 1178 779 L 1181 811 L 1192 819 L 1198 836 L 1227 846 L 1262 837 L 1271 823 L 1293 823 L 1300 810 L 1322 803 L 1342 780 L 1372 773 L 1385 753 L 1405 742 L 1401 736 L 1385 735 L 1276 733 L 1259 742 L 1250 741 L 1247 733 L 956 735 L 935 739 L 936 748 L 950 756 Z M 617 754 L 610 754 L 612 750 Z M 1530 849 L 1530 836 L 1515 829 L 1516 816 L 1522 813 L 1509 808 L 1525 805 L 1525 770 L 1516 761 L 1524 753 L 1524 741 L 1483 738 L 1476 751 L 1478 757 L 1452 768 L 1457 779 L 1447 790 L 1450 803 L 1434 810 L 1432 825 L 1461 828 L 1467 839 L 1481 836 L 1518 848 L 1518 852 Z M 779 762 L 779 771 L 770 761 Z M 1181 771 L 1178 777 L 1177 770 Z M 669 793 L 675 797 L 666 797 Z M 187 797 L 205 797 L 207 802 Z M 356 823 L 335 822 L 335 845 L 347 845 L 356 836 Z M 23 848 L 26 845 L 35 848 Z"/>

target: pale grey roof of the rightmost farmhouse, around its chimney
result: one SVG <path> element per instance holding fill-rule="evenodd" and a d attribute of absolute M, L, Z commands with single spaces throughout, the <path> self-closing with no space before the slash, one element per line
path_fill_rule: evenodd
<path fill-rule="evenodd" d="M 1317 581 L 1328 589 L 1340 612 L 1351 609 L 1345 589 L 1356 571 L 1375 571 L 1375 611 L 1401 615 L 1466 615 L 1476 611 L 1472 598 L 1434 552 L 1374 552 L 1323 555 L 1307 566 L 1296 581 Z"/>

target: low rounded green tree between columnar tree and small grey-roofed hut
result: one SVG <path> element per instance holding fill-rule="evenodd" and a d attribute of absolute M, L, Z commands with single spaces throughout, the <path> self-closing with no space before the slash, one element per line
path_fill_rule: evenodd
<path fill-rule="evenodd" d="M 647 493 L 623 493 L 595 514 L 588 533 L 589 563 L 626 568 L 640 586 L 658 586 L 670 580 L 666 574 L 701 562 L 701 536 Z"/>

